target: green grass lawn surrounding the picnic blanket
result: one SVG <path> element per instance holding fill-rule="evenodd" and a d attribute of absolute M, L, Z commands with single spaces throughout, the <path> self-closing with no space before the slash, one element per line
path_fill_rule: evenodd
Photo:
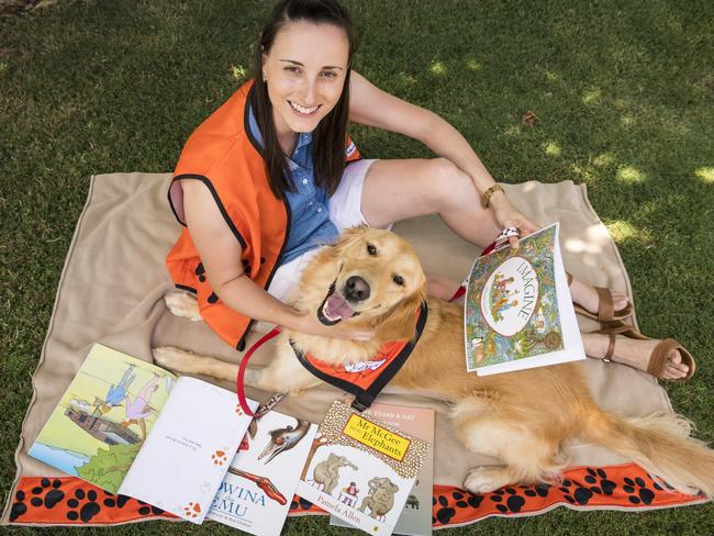
<path fill-rule="evenodd" d="M 714 9 L 709 1 L 353 0 L 357 69 L 453 122 L 505 181 L 585 182 L 629 271 L 638 319 L 695 355 L 668 386 L 714 439 Z M 0 21 L 0 489 L 32 394 L 57 281 L 92 174 L 170 171 L 239 83 L 263 1 L 64 1 Z M 236 78 L 237 76 L 237 78 Z M 539 118 L 533 127 L 522 116 Z M 355 129 L 380 158 L 427 154 Z M 645 514 L 557 510 L 453 534 L 712 534 L 709 505 Z M 89 529 L 92 534 L 97 529 Z M 150 523 L 107 534 L 231 534 Z M 30 534 L 33 529 L 13 529 Z M 53 529 L 53 534 L 70 533 Z M 347 534 L 325 518 L 287 534 Z M 82 534 L 87 534 L 85 531 Z"/>

